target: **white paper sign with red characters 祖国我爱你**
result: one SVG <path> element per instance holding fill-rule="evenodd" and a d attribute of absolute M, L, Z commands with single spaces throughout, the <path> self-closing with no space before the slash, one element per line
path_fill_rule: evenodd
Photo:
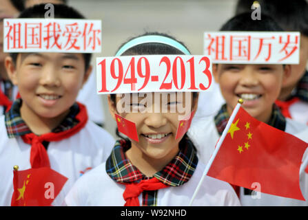
<path fill-rule="evenodd" d="M 101 52 L 101 21 L 4 19 L 3 52 Z"/>

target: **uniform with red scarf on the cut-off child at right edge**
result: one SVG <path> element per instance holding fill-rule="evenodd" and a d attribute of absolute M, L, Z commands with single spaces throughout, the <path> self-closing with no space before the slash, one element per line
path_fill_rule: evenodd
<path fill-rule="evenodd" d="M 308 125 L 308 72 L 298 82 L 286 101 L 276 101 L 283 115 Z"/>

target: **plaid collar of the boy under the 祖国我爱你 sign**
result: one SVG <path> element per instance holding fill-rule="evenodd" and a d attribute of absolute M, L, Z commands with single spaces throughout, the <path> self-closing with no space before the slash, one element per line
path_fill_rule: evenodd
<path fill-rule="evenodd" d="M 21 99 L 17 99 L 13 102 L 10 111 L 5 114 L 5 122 L 6 122 L 6 131 L 8 133 L 8 137 L 18 137 L 21 135 L 25 135 L 27 133 L 32 133 L 30 128 L 21 118 L 20 108 L 21 108 Z M 79 113 L 79 106 L 75 102 L 72 107 L 70 107 L 70 112 L 65 117 L 65 119 L 57 126 L 55 129 L 52 129 L 53 133 L 59 133 L 61 131 L 66 131 L 68 129 L 72 129 L 73 126 L 79 123 L 78 120 L 75 119 L 75 116 Z"/>

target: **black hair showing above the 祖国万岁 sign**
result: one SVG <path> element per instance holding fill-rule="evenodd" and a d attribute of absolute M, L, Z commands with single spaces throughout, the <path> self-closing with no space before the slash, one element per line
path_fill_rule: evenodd
<path fill-rule="evenodd" d="M 266 14 L 261 20 L 251 19 L 251 13 L 244 12 L 229 19 L 220 28 L 220 31 L 258 31 L 258 32 L 283 32 L 283 28 Z"/>

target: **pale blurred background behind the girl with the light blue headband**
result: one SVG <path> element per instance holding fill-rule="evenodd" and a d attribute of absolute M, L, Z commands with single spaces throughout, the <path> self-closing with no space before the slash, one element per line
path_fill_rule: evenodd
<path fill-rule="evenodd" d="M 114 56 L 127 39 L 147 31 L 170 34 L 183 41 L 192 54 L 203 54 L 203 32 L 216 31 L 231 18 L 236 0 L 69 0 L 68 5 L 88 19 L 102 20 L 102 52 L 94 54 L 94 65 L 97 56 Z M 116 137 L 107 97 L 101 98 L 104 128 Z"/>

